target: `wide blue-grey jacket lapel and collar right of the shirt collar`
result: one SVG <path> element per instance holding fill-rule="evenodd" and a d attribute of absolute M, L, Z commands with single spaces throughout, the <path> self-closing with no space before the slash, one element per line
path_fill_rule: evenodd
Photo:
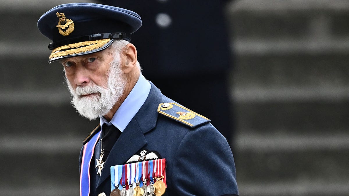
<path fill-rule="evenodd" d="M 124 164 L 129 158 L 131 158 L 136 152 L 138 152 L 148 142 L 144 137 L 144 134 L 153 129 L 156 126 L 157 120 L 157 107 L 162 101 L 162 94 L 153 83 L 151 83 L 151 89 L 148 98 L 144 102 L 143 106 L 136 113 L 134 118 L 128 123 L 125 130 L 122 132 L 112 150 L 110 151 L 103 169 L 101 178 L 99 178 L 98 187 L 106 179 L 110 179 L 110 167 L 114 165 Z"/>

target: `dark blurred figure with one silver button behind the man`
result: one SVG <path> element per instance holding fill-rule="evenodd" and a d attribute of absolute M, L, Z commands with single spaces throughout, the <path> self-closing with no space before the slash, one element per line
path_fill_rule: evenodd
<path fill-rule="evenodd" d="M 228 76 L 231 50 L 223 13 L 227 0 L 99 0 L 134 10 L 143 21 L 132 35 L 143 75 L 162 93 L 207 116 L 232 147 Z"/>

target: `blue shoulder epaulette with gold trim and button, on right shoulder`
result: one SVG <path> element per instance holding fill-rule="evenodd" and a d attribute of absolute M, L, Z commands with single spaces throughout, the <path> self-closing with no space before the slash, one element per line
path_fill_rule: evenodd
<path fill-rule="evenodd" d="M 210 119 L 205 116 L 193 112 L 177 103 L 161 103 L 157 108 L 157 112 L 190 127 L 196 127 L 203 123 L 210 122 Z"/>

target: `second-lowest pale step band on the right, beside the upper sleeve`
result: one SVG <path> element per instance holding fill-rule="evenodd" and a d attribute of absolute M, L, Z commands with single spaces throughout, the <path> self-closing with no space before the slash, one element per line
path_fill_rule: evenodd
<path fill-rule="evenodd" d="M 309 131 L 310 132 L 310 131 Z M 346 151 L 349 149 L 348 132 L 309 133 L 258 133 L 243 131 L 235 137 L 234 149 L 239 154 L 296 153 L 301 151 Z M 322 158 L 322 157 L 320 157 Z"/>

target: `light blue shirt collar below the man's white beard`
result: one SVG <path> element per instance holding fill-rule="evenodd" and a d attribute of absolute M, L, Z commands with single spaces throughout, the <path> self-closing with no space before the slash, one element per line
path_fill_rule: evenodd
<path fill-rule="evenodd" d="M 133 116 L 136 115 L 138 110 L 146 101 L 149 92 L 150 83 L 146 80 L 146 78 L 144 78 L 142 74 L 140 74 L 136 85 L 128 94 L 124 102 L 122 102 L 111 121 L 108 122 L 103 116 L 99 116 L 101 127 L 104 123 L 107 123 L 108 126 L 113 124 L 121 132 L 124 131 L 128 123 L 132 120 Z"/>

